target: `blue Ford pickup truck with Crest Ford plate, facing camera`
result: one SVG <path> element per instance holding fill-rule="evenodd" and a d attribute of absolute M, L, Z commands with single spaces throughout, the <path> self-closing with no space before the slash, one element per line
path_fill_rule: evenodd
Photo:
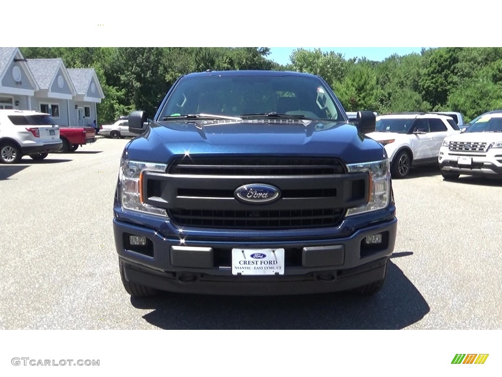
<path fill-rule="evenodd" d="M 123 150 L 113 231 L 126 291 L 374 293 L 396 208 L 384 147 L 319 76 L 180 77 Z"/>

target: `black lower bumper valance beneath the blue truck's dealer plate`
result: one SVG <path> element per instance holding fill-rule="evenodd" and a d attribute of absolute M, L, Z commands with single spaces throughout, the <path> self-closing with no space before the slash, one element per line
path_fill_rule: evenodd
<path fill-rule="evenodd" d="M 234 296 L 328 293 L 355 289 L 385 278 L 388 257 L 355 268 L 282 276 L 213 276 L 195 272 L 159 272 L 121 259 L 128 281 L 161 291 Z"/>

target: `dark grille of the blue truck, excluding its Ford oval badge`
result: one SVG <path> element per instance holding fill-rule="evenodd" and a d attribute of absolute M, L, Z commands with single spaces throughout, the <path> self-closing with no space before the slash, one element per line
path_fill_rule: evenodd
<path fill-rule="evenodd" d="M 243 230 L 336 227 L 347 208 L 367 203 L 369 188 L 367 172 L 316 157 L 185 157 L 143 179 L 145 203 L 166 209 L 174 225 Z M 253 183 L 276 187 L 279 198 L 237 200 L 236 189 Z"/>

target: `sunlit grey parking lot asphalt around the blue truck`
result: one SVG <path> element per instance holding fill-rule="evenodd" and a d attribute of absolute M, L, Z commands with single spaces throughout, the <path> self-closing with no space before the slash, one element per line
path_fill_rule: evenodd
<path fill-rule="evenodd" d="M 1 329 L 502 329 L 502 183 L 437 167 L 393 181 L 398 236 L 374 296 L 131 299 L 111 225 L 127 142 L 0 165 Z"/>

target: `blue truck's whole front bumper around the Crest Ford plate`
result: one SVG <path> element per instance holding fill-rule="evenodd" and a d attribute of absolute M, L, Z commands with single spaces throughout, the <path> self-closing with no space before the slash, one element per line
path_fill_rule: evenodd
<path fill-rule="evenodd" d="M 126 279 L 164 291 L 221 295 L 286 295 L 344 291 L 385 277 L 394 251 L 397 219 L 323 240 L 180 241 L 159 232 L 113 219 L 115 246 Z M 383 233 L 377 247 L 367 235 Z M 146 246 L 132 246 L 129 235 L 145 236 Z M 189 237 L 188 237 L 189 238 Z M 183 245 L 180 247 L 180 245 Z M 325 246 L 330 246 L 326 253 Z M 285 273 L 275 276 L 232 275 L 231 249 L 285 248 Z M 204 248 L 205 253 L 200 253 Z"/>

